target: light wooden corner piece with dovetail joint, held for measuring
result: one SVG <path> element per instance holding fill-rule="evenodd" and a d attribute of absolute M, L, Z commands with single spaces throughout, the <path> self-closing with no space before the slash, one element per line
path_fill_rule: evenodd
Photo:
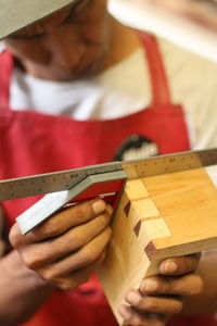
<path fill-rule="evenodd" d="M 125 291 L 157 274 L 163 259 L 217 248 L 217 189 L 204 168 L 128 183 L 113 220 L 106 260 L 99 269 L 119 324 Z"/>

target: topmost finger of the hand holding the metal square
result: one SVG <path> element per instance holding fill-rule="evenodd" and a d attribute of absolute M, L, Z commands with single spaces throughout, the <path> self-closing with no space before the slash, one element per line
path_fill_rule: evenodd
<path fill-rule="evenodd" d="M 13 247 L 17 248 L 22 244 L 56 237 L 74 226 L 81 225 L 99 216 L 105 212 L 106 208 L 110 206 L 99 199 L 73 205 L 55 214 L 25 236 L 21 235 L 17 224 L 15 224 L 10 231 L 10 241 Z"/>

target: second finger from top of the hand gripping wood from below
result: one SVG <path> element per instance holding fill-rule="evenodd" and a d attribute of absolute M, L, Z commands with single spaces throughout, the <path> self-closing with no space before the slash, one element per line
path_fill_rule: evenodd
<path fill-rule="evenodd" d="M 154 276 L 142 280 L 142 294 L 196 296 L 203 290 L 203 280 L 199 275 L 189 274 L 182 277 Z"/>

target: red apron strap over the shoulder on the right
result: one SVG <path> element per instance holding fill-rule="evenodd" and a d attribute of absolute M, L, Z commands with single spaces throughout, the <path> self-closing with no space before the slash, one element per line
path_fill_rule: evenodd
<path fill-rule="evenodd" d="M 150 71 L 153 105 L 171 105 L 170 92 L 163 58 L 156 38 L 153 35 L 139 32 L 142 39 Z"/>

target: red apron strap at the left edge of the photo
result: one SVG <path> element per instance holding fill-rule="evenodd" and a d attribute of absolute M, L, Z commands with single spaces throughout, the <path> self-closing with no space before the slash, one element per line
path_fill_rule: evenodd
<path fill-rule="evenodd" d="M 9 110 L 10 82 L 13 70 L 13 57 L 4 50 L 0 54 L 0 110 Z"/>

